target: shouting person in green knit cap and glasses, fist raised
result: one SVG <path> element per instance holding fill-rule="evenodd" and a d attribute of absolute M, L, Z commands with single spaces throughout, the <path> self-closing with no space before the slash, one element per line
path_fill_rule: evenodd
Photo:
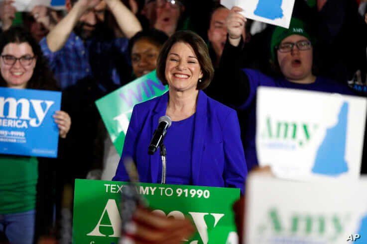
<path fill-rule="evenodd" d="M 341 94 L 353 94 L 347 86 L 336 81 L 317 77 L 313 73 L 313 45 L 307 26 L 292 18 L 289 29 L 276 27 L 270 48 L 276 77 L 259 71 L 239 67 L 239 54 L 243 46 L 242 32 L 245 17 L 243 9 L 233 7 L 227 18 L 228 39 L 220 67 L 216 71 L 211 94 L 225 104 L 244 111 L 246 125 L 242 131 L 248 170 L 257 165 L 255 150 L 255 97 L 258 86 L 285 87 Z M 266 48 L 266 47 L 264 47 Z M 226 81 L 221 84 L 221 81 Z M 213 95 L 213 93 L 216 93 Z M 291 102 L 291 101 L 290 101 Z"/>

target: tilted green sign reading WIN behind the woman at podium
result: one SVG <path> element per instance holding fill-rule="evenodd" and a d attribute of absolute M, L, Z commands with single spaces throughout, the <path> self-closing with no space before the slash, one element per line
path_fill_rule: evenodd
<path fill-rule="evenodd" d="M 153 71 L 131 81 L 96 101 L 111 140 L 121 156 L 123 142 L 134 105 L 160 96 L 168 90 Z"/>

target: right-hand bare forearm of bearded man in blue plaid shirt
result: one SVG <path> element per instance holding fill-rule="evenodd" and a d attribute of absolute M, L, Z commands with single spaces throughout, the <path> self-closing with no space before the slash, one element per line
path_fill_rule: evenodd
<path fill-rule="evenodd" d="M 136 32 L 141 31 L 141 25 L 136 16 L 122 3 L 121 0 L 105 0 L 110 11 L 116 18 L 123 34 L 130 39 Z"/>

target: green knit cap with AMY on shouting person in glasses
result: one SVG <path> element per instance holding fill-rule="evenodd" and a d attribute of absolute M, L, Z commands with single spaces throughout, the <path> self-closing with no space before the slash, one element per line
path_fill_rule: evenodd
<path fill-rule="evenodd" d="M 274 32 L 271 36 L 270 42 L 270 52 L 271 52 L 271 60 L 275 62 L 276 55 L 275 55 L 275 47 L 278 46 L 282 40 L 287 38 L 290 35 L 301 35 L 306 37 L 308 40 L 311 40 L 311 36 L 307 32 L 307 26 L 303 21 L 297 18 L 292 18 L 290 21 L 289 29 L 277 26 L 274 29 Z"/>

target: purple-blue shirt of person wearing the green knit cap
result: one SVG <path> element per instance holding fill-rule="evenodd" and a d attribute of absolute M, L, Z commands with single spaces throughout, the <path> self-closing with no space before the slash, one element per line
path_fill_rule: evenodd
<path fill-rule="evenodd" d="M 258 164 L 255 147 L 255 131 L 256 131 L 255 101 L 258 86 L 283 87 L 292 89 L 340 93 L 344 95 L 355 95 L 352 89 L 349 88 L 347 85 L 323 77 L 317 77 L 316 81 L 311 84 L 299 84 L 287 81 L 285 78 L 274 79 L 256 70 L 243 69 L 243 72 L 245 72 L 248 79 L 249 95 L 245 103 L 239 106 L 238 109 L 248 111 L 246 128 L 245 131 L 243 132 L 245 134 L 244 147 L 248 170 L 250 170 L 253 166 Z"/>

